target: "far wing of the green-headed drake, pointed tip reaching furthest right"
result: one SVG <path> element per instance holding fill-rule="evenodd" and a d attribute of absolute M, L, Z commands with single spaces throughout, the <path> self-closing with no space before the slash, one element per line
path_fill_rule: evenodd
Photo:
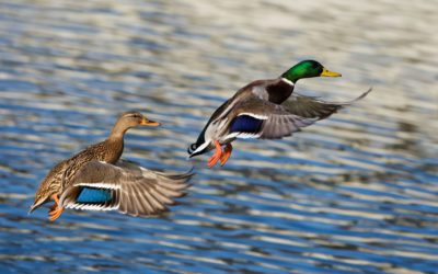
<path fill-rule="evenodd" d="M 326 102 L 312 96 L 293 93 L 281 105 L 290 113 L 304 118 L 323 119 L 337 112 L 339 109 L 350 105 L 365 98 L 372 89 L 349 102 Z"/>

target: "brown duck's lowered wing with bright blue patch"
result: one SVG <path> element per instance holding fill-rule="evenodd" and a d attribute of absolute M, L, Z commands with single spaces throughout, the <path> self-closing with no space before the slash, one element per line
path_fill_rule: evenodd
<path fill-rule="evenodd" d="M 64 191 L 60 204 L 66 208 L 157 215 L 185 194 L 192 175 L 191 172 L 155 172 L 124 160 L 115 165 L 91 161 Z"/>

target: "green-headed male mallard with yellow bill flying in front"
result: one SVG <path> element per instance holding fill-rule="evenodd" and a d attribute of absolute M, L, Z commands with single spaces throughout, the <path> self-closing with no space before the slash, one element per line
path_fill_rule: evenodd
<path fill-rule="evenodd" d="M 298 80 L 311 77 L 341 77 L 341 73 L 327 70 L 318 61 L 304 60 L 277 79 L 253 81 L 216 110 L 197 141 L 188 147 L 189 157 L 216 149 L 207 165 L 211 168 L 219 160 L 223 165 L 231 156 L 231 142 L 234 139 L 278 139 L 290 136 L 369 92 L 344 103 L 324 102 L 299 94 L 286 101 Z"/>

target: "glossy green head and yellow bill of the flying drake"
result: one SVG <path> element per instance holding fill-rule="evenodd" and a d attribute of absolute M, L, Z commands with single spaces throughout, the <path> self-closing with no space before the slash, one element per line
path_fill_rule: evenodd
<path fill-rule="evenodd" d="M 311 77 L 341 77 L 341 73 L 330 71 L 328 69 L 324 68 L 319 61 L 303 60 L 281 75 L 281 78 L 286 78 L 293 83 L 302 78 Z"/>

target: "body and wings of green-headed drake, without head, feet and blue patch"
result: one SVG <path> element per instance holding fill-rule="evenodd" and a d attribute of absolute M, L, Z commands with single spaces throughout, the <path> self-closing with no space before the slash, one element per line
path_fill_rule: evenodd
<path fill-rule="evenodd" d="M 349 102 L 325 102 L 292 94 L 293 83 L 284 78 L 257 80 L 240 89 L 210 117 L 197 141 L 187 149 L 191 157 L 215 148 L 214 141 L 229 144 L 237 138 L 279 139 L 290 136 L 339 109 L 366 96 L 371 90 Z M 263 121 L 256 133 L 230 132 L 239 116 Z"/>

